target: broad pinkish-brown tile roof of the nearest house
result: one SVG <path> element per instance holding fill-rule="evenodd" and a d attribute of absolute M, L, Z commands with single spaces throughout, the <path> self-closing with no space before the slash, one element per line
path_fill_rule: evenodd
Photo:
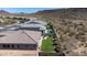
<path fill-rule="evenodd" d="M 0 32 L 0 43 L 36 44 L 41 39 L 39 31 L 4 31 Z"/>

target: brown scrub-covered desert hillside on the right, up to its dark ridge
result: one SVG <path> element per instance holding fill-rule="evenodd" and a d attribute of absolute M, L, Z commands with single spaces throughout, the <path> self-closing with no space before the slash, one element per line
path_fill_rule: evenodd
<path fill-rule="evenodd" d="M 65 55 L 87 55 L 87 9 L 54 9 L 35 13 L 51 22 L 57 35 L 57 45 Z"/>

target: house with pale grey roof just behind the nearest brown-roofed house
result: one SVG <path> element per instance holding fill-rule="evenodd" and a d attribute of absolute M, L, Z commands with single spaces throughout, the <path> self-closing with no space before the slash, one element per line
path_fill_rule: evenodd
<path fill-rule="evenodd" d="M 46 22 L 44 21 L 28 21 L 25 23 L 19 24 L 20 29 L 22 30 L 34 30 L 34 31 L 42 31 L 46 33 Z"/>

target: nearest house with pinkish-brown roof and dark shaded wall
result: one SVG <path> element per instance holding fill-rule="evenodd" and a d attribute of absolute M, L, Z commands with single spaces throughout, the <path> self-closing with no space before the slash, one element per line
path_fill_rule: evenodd
<path fill-rule="evenodd" d="M 31 50 L 36 51 L 41 40 L 39 31 L 3 31 L 0 32 L 0 50 Z"/>

